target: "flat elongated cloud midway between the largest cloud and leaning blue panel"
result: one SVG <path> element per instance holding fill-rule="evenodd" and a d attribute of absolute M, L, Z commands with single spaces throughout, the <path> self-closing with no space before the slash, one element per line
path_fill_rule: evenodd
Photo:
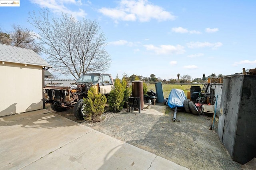
<path fill-rule="evenodd" d="M 182 54 L 185 52 L 184 47 L 181 45 L 160 45 L 159 47 L 156 47 L 152 44 L 144 45 L 147 50 L 154 51 L 157 55 L 160 54 Z"/>

